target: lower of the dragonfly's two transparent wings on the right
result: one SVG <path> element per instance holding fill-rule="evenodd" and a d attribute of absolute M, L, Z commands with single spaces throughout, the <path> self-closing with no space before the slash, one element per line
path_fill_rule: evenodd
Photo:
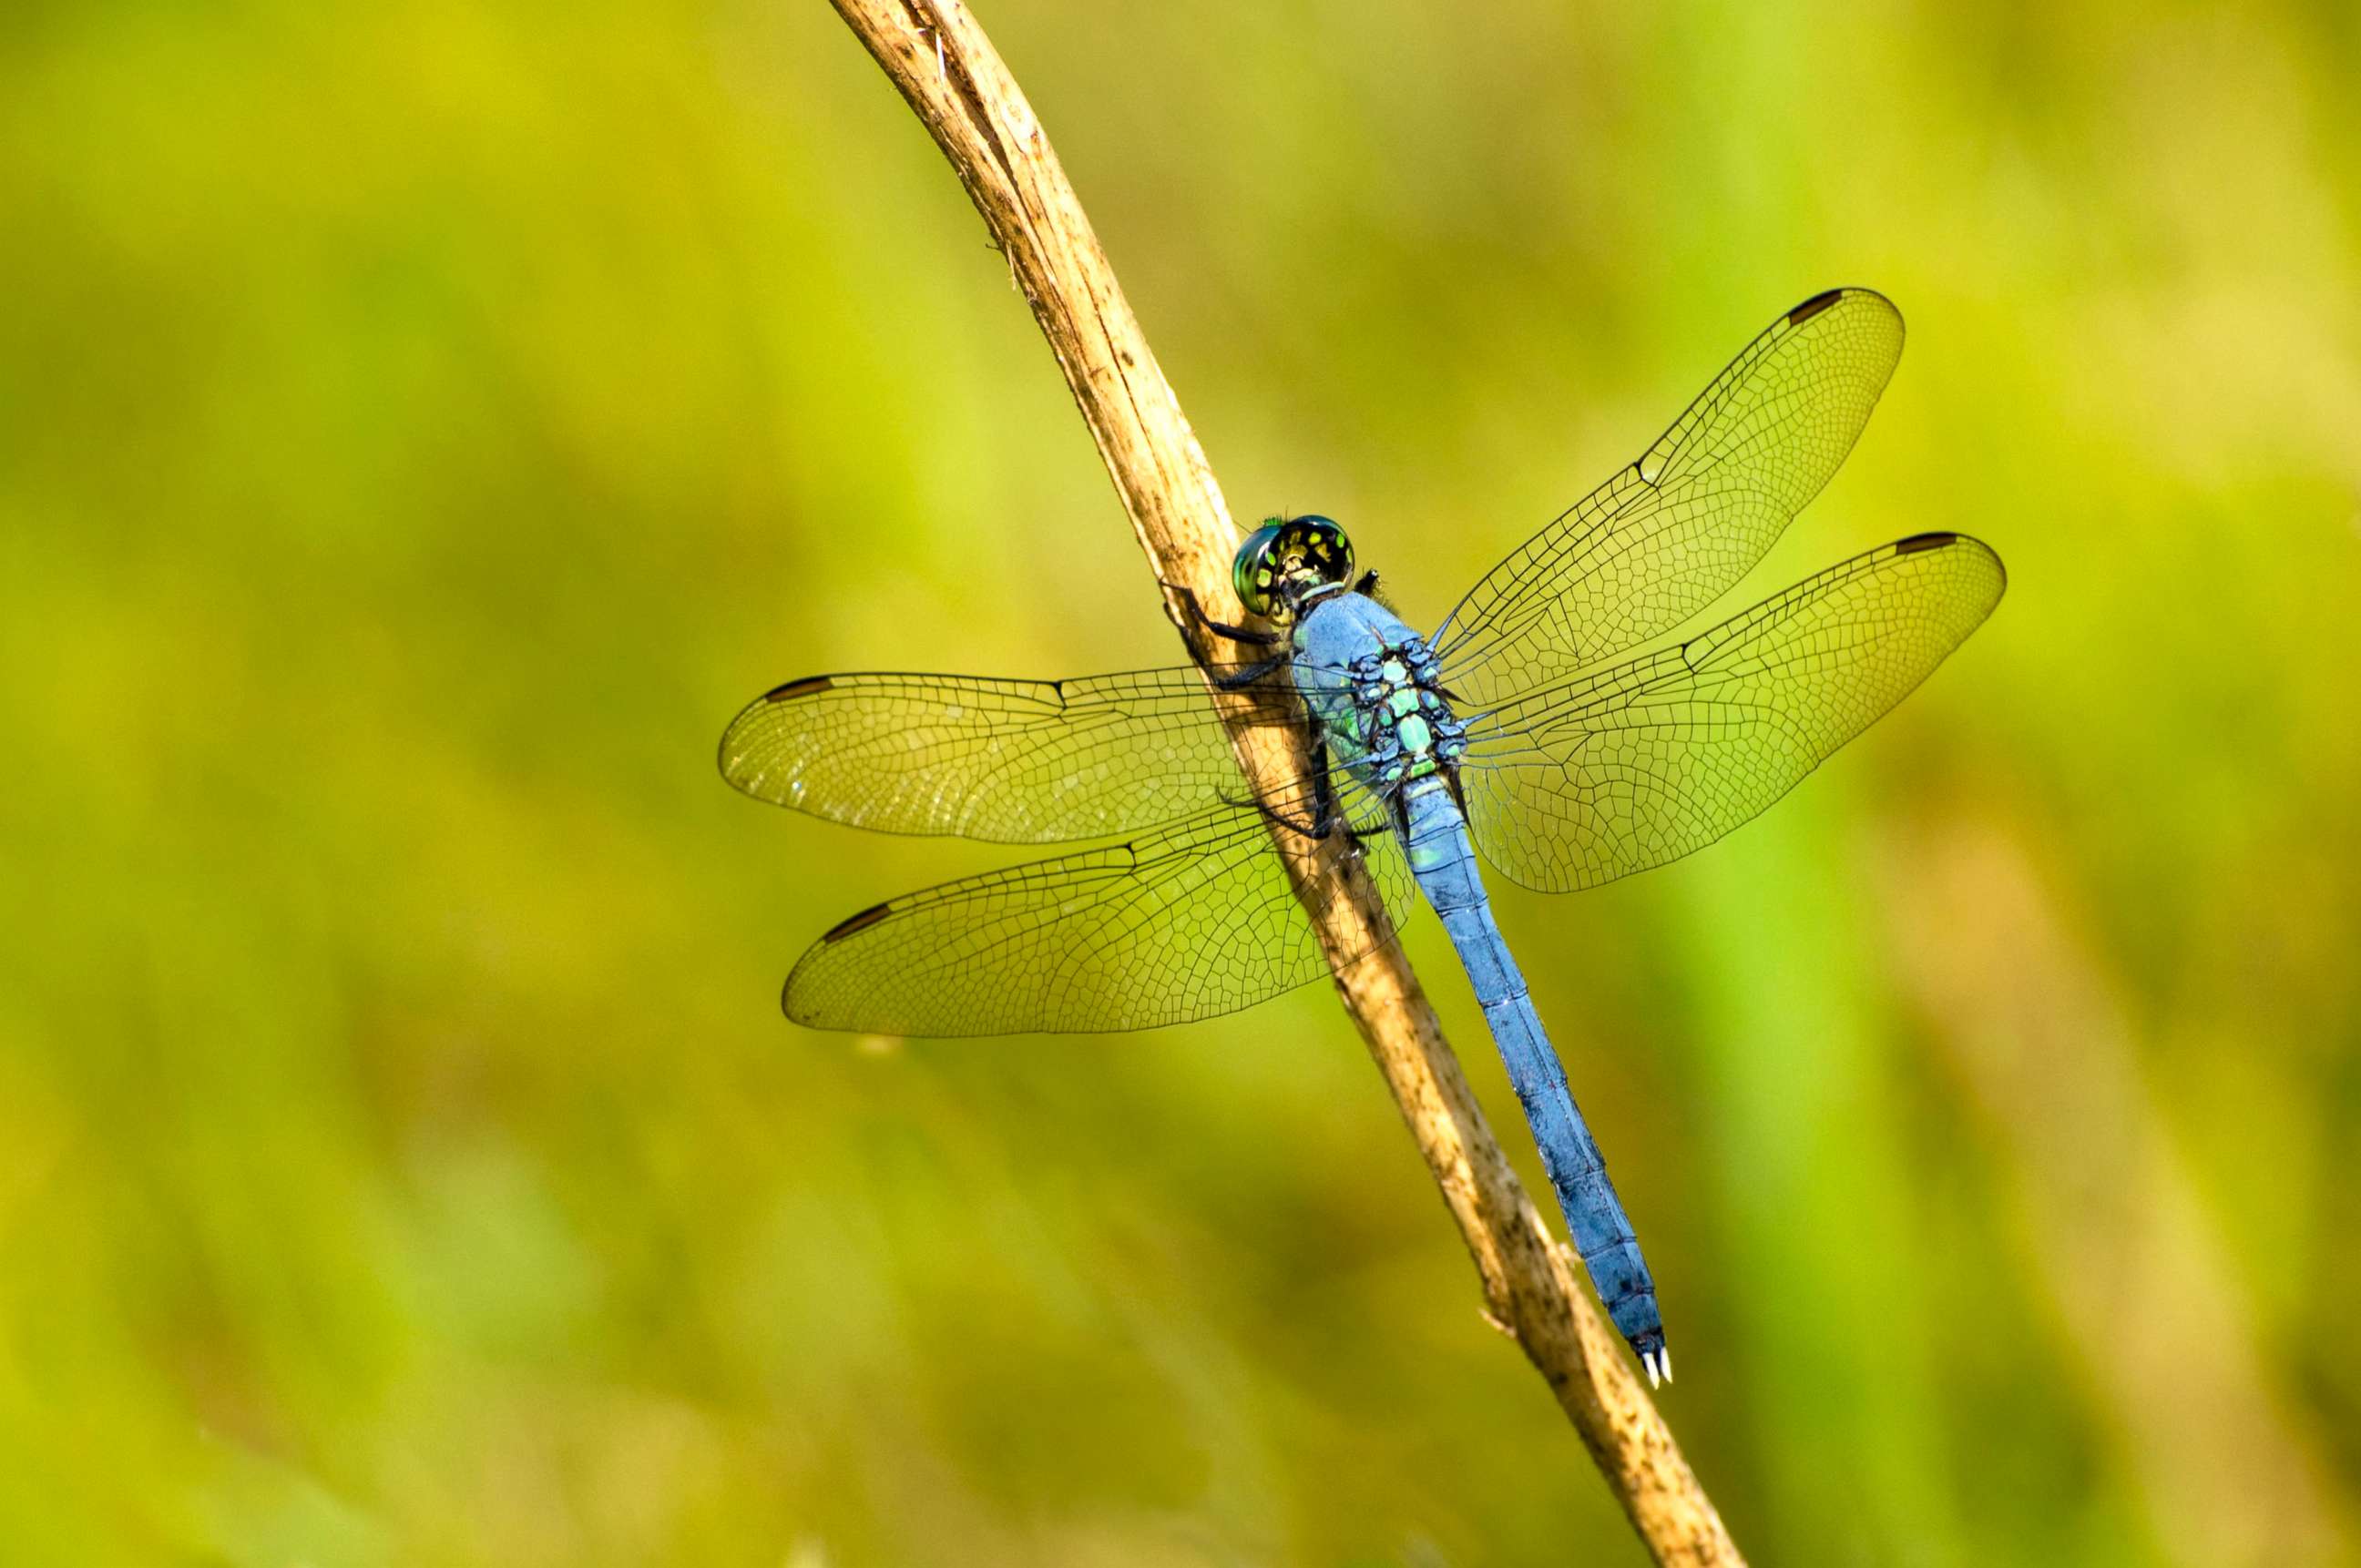
<path fill-rule="evenodd" d="M 1908 697 L 2004 586 L 1983 543 L 1919 534 L 1679 647 L 1471 716 L 1476 848 L 1542 893 L 1705 848 Z"/>

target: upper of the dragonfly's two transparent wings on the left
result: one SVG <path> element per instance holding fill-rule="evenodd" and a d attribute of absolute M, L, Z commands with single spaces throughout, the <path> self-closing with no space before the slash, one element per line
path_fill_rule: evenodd
<path fill-rule="evenodd" d="M 1195 666 L 1084 680 L 807 675 L 730 720 L 722 777 L 883 834 L 1065 843 L 1240 801 L 1247 779 Z M 1301 723 L 1284 675 L 1223 701 Z"/>

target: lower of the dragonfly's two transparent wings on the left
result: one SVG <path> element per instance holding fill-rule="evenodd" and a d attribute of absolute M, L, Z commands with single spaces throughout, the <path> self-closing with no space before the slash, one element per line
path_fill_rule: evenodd
<path fill-rule="evenodd" d="M 1317 902 L 1372 881 L 1388 921 L 1348 956 L 1393 937 L 1410 869 L 1388 834 L 1320 843 Z M 874 1034 L 1114 1032 L 1214 1018 L 1327 973 L 1270 827 L 1247 808 L 864 909 L 803 954 L 784 1006 L 815 1030 Z"/>

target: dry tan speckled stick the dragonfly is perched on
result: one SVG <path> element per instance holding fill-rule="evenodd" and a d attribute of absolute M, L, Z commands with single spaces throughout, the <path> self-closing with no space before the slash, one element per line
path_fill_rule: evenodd
<path fill-rule="evenodd" d="M 1192 590 L 1211 614 L 1228 605 L 1237 534 L 1221 486 L 1147 352 L 1074 187 L 992 40 L 959 0 L 831 2 L 926 120 L 1008 257 L 1190 656 L 1199 664 L 1216 654 L 1240 656 L 1216 647 L 1180 597 L 1183 588 Z M 1244 699 L 1216 701 L 1225 718 L 1247 713 Z M 1230 723 L 1230 741 L 1256 786 L 1303 777 L 1303 741 L 1284 725 Z M 1301 834 L 1275 831 L 1273 838 L 1301 895 L 1308 876 L 1322 869 L 1320 850 Z M 1303 904 L 1329 954 L 1336 992 L 1459 1221 L 1492 1320 L 1549 1379 L 1655 1561 L 1740 1563 L 1712 1500 L 1639 1386 L 1622 1341 L 1577 1285 L 1565 1249 L 1551 1240 L 1492 1141 L 1410 961 L 1395 945 L 1353 961 L 1369 949 L 1369 933 L 1386 928 L 1386 916 L 1367 874 L 1348 876 L 1355 878 L 1353 897 L 1308 897 Z"/>

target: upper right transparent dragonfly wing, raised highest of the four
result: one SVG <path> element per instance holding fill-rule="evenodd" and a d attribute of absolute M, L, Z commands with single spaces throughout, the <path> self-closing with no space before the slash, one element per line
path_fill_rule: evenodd
<path fill-rule="evenodd" d="M 1502 701 L 1721 597 L 1844 463 L 1901 352 L 1901 314 L 1868 288 L 1773 321 L 1655 446 L 1469 590 L 1433 635 L 1445 682 Z"/>

